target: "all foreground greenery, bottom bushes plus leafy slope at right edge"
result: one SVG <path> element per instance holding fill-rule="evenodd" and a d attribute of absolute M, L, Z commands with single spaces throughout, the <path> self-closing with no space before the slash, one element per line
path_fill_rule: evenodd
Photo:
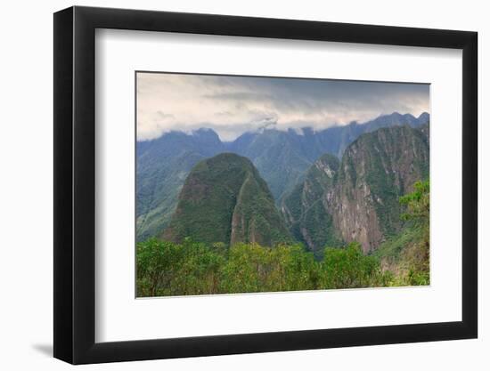
<path fill-rule="evenodd" d="M 429 284 L 429 181 L 400 198 L 405 230 L 374 254 L 352 242 L 317 260 L 302 245 L 206 244 L 148 239 L 137 245 L 137 295 L 229 294 Z"/>

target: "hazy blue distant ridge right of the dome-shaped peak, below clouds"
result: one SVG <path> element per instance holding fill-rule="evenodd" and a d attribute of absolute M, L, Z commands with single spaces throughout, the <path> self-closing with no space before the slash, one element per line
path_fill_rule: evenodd
<path fill-rule="evenodd" d="M 347 146 L 363 133 L 371 133 L 381 127 L 410 125 L 418 127 L 429 122 L 429 114 L 420 117 L 399 114 L 377 117 L 364 124 L 345 126 L 315 132 L 310 127 L 300 131 L 265 129 L 257 133 L 245 133 L 228 145 L 228 150 L 248 157 L 264 177 L 280 204 L 285 194 L 302 180 L 306 170 L 324 153 L 342 157 Z"/>

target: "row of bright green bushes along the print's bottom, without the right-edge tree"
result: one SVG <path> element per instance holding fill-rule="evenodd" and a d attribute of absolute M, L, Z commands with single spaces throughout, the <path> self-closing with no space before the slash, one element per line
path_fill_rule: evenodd
<path fill-rule="evenodd" d="M 138 244 L 138 296 L 231 294 L 388 286 L 391 275 L 361 246 L 326 248 L 323 261 L 302 246 L 206 246 L 155 238 Z"/>

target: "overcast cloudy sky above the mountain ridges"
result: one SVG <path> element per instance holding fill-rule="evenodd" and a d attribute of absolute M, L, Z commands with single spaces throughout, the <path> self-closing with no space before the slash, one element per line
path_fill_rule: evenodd
<path fill-rule="evenodd" d="M 392 112 L 429 112 L 429 85 L 137 74 L 138 141 L 172 130 L 212 128 L 223 141 L 263 127 L 279 130 L 363 123 Z"/>

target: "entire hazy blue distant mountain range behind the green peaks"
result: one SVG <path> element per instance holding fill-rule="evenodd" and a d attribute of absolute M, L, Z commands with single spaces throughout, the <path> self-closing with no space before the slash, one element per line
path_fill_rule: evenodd
<path fill-rule="evenodd" d="M 192 167 L 218 153 L 247 157 L 272 192 L 276 205 L 305 179 L 306 171 L 323 154 L 341 157 L 347 146 L 363 133 L 380 127 L 429 122 L 429 114 L 413 117 L 393 113 L 364 124 L 314 131 L 264 129 L 243 133 L 233 142 L 222 142 L 211 129 L 193 133 L 170 132 L 152 141 L 136 143 L 136 238 L 159 236 L 176 210 L 177 197 Z"/>

